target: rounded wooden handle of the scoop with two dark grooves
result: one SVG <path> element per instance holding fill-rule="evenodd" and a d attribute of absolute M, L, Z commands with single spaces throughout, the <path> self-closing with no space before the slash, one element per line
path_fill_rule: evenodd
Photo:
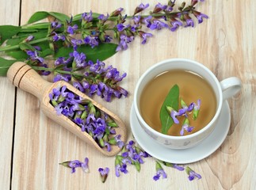
<path fill-rule="evenodd" d="M 13 63 L 7 71 L 7 78 L 13 82 L 14 86 L 32 93 L 40 100 L 46 89 L 52 86 L 51 82 L 44 80 L 32 67 L 22 62 Z"/>

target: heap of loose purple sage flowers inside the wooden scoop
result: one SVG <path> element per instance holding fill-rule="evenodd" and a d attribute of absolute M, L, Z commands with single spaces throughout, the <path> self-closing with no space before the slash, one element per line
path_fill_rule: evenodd
<path fill-rule="evenodd" d="M 120 135 L 116 134 L 116 122 L 95 107 L 91 101 L 72 93 L 67 86 L 53 89 L 49 97 L 57 115 L 67 116 L 81 127 L 82 132 L 88 133 L 101 148 L 106 147 L 107 151 L 111 151 L 111 146 L 124 146 Z"/>

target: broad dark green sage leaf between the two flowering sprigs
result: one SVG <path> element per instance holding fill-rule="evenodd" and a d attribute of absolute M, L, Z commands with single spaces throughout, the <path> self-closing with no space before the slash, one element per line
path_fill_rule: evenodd
<path fill-rule="evenodd" d="M 87 45 L 83 45 L 78 47 L 78 52 L 83 52 L 86 55 L 87 60 L 92 60 L 96 62 L 97 59 L 103 61 L 108 59 L 112 55 L 116 54 L 117 44 L 99 44 L 97 47 L 90 47 Z M 69 54 L 74 51 L 73 47 L 60 47 L 59 51 L 55 54 L 55 58 L 59 57 L 68 57 Z"/>

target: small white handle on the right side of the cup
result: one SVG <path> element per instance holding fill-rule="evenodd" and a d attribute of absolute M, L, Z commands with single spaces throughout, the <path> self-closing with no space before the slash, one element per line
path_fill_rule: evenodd
<path fill-rule="evenodd" d="M 227 98 L 233 97 L 236 93 L 239 93 L 242 88 L 242 82 L 236 77 L 225 78 L 220 82 L 220 87 L 223 93 L 223 101 L 225 101 Z"/>

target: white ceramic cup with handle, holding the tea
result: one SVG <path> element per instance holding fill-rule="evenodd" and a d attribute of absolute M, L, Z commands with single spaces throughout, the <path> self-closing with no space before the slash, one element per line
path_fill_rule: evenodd
<path fill-rule="evenodd" d="M 184 136 L 171 136 L 155 131 L 150 127 L 140 113 L 139 100 L 141 93 L 147 83 L 151 79 L 155 78 L 158 74 L 162 74 L 168 70 L 190 70 L 193 73 L 201 75 L 209 84 L 216 95 L 216 114 L 213 116 L 212 120 L 203 127 L 200 131 L 197 131 L 190 135 Z M 240 91 L 242 87 L 242 82 L 239 78 L 231 77 L 226 78 L 219 82 L 216 76 L 203 64 L 197 63 L 189 59 L 167 59 L 160 63 L 156 63 L 139 78 L 139 82 L 136 84 L 136 89 L 134 93 L 134 108 L 136 116 L 139 120 L 140 127 L 146 131 L 147 135 L 151 136 L 155 142 L 159 142 L 162 146 L 166 146 L 170 149 L 185 149 L 192 146 L 196 146 L 199 142 L 208 137 L 216 127 L 216 123 L 220 118 L 220 111 L 225 101 L 229 97 L 233 97 L 236 93 Z M 139 126 L 138 126 L 139 127 Z"/>

